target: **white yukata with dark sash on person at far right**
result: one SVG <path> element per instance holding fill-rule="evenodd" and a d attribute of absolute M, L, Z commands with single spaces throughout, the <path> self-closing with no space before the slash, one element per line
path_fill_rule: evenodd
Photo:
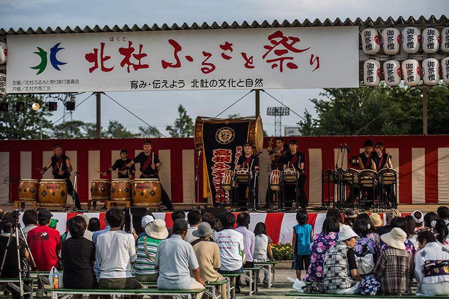
<path fill-rule="evenodd" d="M 419 285 L 418 289 L 423 283 L 449 282 L 449 275 L 424 277 L 424 264 L 427 260 L 449 260 L 449 251 L 443 248 L 440 243 L 430 242 L 415 255 L 415 277 Z"/>

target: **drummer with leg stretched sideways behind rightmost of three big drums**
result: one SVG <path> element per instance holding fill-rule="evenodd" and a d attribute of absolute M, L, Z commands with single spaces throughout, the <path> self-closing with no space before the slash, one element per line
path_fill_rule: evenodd
<path fill-rule="evenodd" d="M 130 171 L 131 167 L 134 165 L 134 163 L 140 163 L 140 171 L 142 174 L 139 178 L 157 178 L 159 179 L 158 172 L 161 169 L 161 164 L 159 161 L 159 157 L 157 154 L 151 151 L 153 149 L 153 146 L 151 144 L 151 141 L 146 140 L 143 143 L 144 151 L 139 153 L 134 159 L 128 162 L 126 164 L 126 170 Z M 170 211 L 174 211 L 173 204 L 170 201 L 170 197 L 168 196 L 167 192 L 164 190 L 161 184 L 161 190 L 162 190 L 162 198 L 161 202 L 163 205 L 167 207 Z"/>

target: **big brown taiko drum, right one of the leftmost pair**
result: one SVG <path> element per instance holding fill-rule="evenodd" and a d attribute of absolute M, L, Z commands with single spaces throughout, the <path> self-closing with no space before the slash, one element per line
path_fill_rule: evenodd
<path fill-rule="evenodd" d="M 64 207 L 67 201 L 67 184 L 63 179 L 41 179 L 39 206 Z"/>

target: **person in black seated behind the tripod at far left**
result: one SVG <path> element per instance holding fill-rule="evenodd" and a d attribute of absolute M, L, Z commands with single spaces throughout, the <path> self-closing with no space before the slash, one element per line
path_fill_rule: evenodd
<path fill-rule="evenodd" d="M 11 220 L 11 221 L 7 221 Z M 19 267 L 17 263 L 17 247 L 15 240 L 15 228 L 12 228 L 12 212 L 6 212 L 3 215 L 3 223 L 1 223 L 1 236 L 0 236 L 0 258 L 3 260 L 4 253 L 6 250 L 6 245 L 8 243 L 9 234 L 12 233 L 12 237 L 9 241 L 9 245 L 7 246 L 7 253 L 3 264 L 3 271 L 1 272 L 0 278 L 18 278 L 19 276 Z M 20 235 L 20 233 L 19 233 Z M 19 258 L 20 258 L 20 269 L 22 277 L 29 277 L 29 269 L 27 259 L 29 257 L 29 253 L 25 248 L 25 243 L 22 239 L 19 238 Z M 0 262 L 1 263 L 1 262 Z M 7 287 L 9 292 L 11 292 L 13 299 L 20 298 L 20 292 L 17 292 L 11 287 Z"/>

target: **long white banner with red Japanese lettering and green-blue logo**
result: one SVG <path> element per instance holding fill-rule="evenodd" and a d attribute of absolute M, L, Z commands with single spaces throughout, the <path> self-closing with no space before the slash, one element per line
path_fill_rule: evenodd
<path fill-rule="evenodd" d="M 10 35 L 7 93 L 359 86 L 357 26 Z"/>

